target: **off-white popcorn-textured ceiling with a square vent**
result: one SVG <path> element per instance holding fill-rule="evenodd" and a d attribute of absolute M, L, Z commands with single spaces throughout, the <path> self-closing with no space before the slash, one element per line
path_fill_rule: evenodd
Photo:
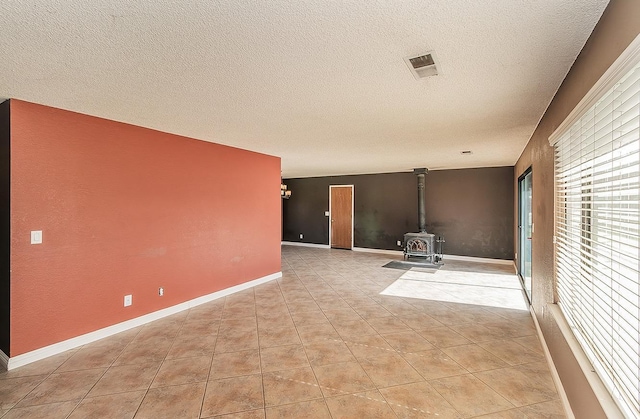
<path fill-rule="evenodd" d="M 2 1 L 0 97 L 280 156 L 285 177 L 513 165 L 607 3 Z M 430 50 L 441 74 L 415 80 L 403 57 Z"/>

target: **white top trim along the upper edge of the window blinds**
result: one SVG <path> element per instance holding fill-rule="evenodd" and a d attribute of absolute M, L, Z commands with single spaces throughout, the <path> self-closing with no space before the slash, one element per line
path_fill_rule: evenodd
<path fill-rule="evenodd" d="M 560 137 L 571 127 L 584 113 L 590 109 L 606 92 L 608 92 L 620 78 L 628 73 L 633 66 L 640 61 L 640 35 L 631 41 L 611 67 L 600 77 L 589 92 L 576 105 L 571 113 L 549 136 L 549 144 L 555 145 Z"/>

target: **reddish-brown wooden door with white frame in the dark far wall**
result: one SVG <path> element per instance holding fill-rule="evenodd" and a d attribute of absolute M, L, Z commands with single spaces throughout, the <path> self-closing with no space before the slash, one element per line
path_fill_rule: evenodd
<path fill-rule="evenodd" d="M 353 186 L 331 186 L 331 247 L 351 249 Z"/>

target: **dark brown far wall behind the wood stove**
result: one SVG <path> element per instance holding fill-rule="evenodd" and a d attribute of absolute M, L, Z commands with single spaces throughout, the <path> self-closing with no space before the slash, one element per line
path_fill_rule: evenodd
<path fill-rule="evenodd" d="M 445 253 L 513 259 L 513 168 L 429 172 L 427 230 L 447 240 Z M 355 247 L 401 250 L 404 233 L 418 231 L 413 173 L 286 179 L 283 240 L 328 244 L 329 185 L 354 185 Z M 300 239 L 300 234 L 304 235 Z"/>

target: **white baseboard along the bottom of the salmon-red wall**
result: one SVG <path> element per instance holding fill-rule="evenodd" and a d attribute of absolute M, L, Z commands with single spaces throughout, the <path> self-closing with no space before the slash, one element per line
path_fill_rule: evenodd
<path fill-rule="evenodd" d="M 7 370 L 21 367 L 23 365 L 30 364 L 35 361 L 57 355 L 59 353 L 68 351 L 69 349 L 77 348 L 82 345 L 86 345 L 96 340 L 106 338 L 116 333 L 124 332 L 125 330 L 132 329 L 134 327 L 142 326 L 150 323 L 154 320 L 161 319 L 163 317 L 170 316 L 175 313 L 179 313 L 183 310 L 199 306 L 200 304 L 208 303 L 218 298 L 226 297 L 227 295 L 234 294 L 239 291 L 246 290 L 251 287 L 255 287 L 260 284 L 264 284 L 274 279 L 281 278 L 282 272 L 276 272 L 270 275 L 257 278 L 252 281 L 243 282 L 242 284 L 234 285 L 233 287 L 225 288 L 220 291 L 216 291 L 211 294 L 203 295 L 202 297 L 194 298 L 193 300 L 185 301 L 184 303 L 176 304 L 171 307 L 164 308 L 162 310 L 154 311 L 153 313 L 145 314 L 135 319 L 127 320 L 122 323 L 117 323 L 112 326 L 105 327 L 103 329 L 95 330 L 93 332 L 86 333 L 84 335 L 76 336 L 71 339 L 64 340 L 62 342 L 54 343 L 43 348 L 36 349 L 31 352 L 27 352 L 14 357 L 7 357 L 7 355 L 0 351 L 0 365 L 4 366 Z"/>

